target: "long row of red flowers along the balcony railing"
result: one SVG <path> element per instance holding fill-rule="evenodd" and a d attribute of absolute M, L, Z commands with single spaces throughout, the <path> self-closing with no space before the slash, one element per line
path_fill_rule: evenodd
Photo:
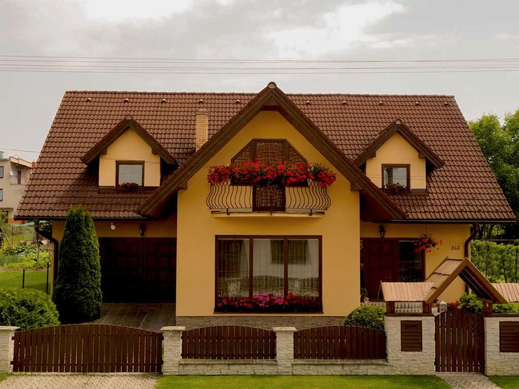
<path fill-rule="evenodd" d="M 336 178 L 334 172 L 320 163 L 267 164 L 260 160 L 211 166 L 207 175 L 210 184 L 233 182 L 258 185 L 302 185 L 311 179 L 323 187 L 332 185 Z"/>

